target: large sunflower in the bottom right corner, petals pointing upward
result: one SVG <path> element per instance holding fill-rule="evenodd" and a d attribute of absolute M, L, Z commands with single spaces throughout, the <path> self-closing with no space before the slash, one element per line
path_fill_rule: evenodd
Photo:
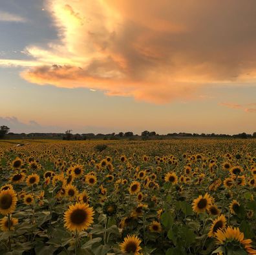
<path fill-rule="evenodd" d="M 228 227 L 227 229 L 219 229 L 216 234 L 217 243 L 228 246 L 229 250 L 237 251 L 240 245 L 248 254 L 256 254 L 256 250 L 252 249 L 250 239 L 244 239 L 244 233 L 239 228 Z"/>

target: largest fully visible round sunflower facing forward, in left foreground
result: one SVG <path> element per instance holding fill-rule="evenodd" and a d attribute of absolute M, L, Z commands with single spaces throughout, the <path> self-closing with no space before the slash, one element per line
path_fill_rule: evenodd
<path fill-rule="evenodd" d="M 94 210 L 85 203 L 70 205 L 64 213 L 65 227 L 70 231 L 82 231 L 88 229 L 93 223 Z"/>

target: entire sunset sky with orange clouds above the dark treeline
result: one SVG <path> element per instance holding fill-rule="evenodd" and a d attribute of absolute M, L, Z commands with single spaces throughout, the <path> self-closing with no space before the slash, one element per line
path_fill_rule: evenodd
<path fill-rule="evenodd" d="M 11 132 L 256 132 L 255 0 L 0 0 Z"/>

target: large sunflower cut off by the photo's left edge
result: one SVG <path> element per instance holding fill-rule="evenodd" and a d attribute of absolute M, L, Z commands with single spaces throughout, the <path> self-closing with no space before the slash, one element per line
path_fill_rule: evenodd
<path fill-rule="evenodd" d="M 17 195 L 13 189 L 2 190 L 0 192 L 0 213 L 11 214 L 16 209 Z"/>

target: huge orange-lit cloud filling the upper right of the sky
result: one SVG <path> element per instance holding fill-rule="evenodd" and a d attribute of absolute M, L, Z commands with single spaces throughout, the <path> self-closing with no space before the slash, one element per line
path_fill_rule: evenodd
<path fill-rule="evenodd" d="M 167 103 L 213 84 L 256 81 L 256 1 L 53 0 L 46 6 L 59 42 L 27 46 L 34 66 L 13 60 L 27 66 L 21 76 L 29 82 Z"/>

